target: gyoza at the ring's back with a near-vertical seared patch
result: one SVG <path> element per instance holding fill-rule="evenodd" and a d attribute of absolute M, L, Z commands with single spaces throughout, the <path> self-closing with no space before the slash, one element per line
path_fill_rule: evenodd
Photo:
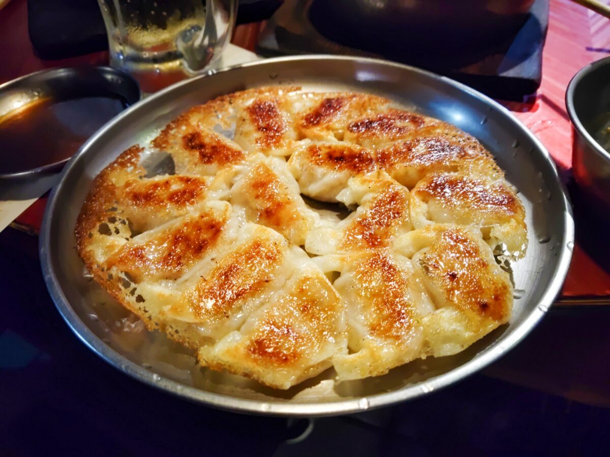
<path fill-rule="evenodd" d="M 237 108 L 235 143 L 248 152 L 265 155 L 290 155 L 299 140 L 290 114 L 286 94 L 293 88 L 260 90 L 240 97 Z"/>

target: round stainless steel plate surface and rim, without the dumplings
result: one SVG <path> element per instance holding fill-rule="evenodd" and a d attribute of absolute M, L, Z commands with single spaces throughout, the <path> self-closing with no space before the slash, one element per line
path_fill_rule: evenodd
<path fill-rule="evenodd" d="M 270 84 L 380 94 L 479 138 L 520 191 L 527 213 L 528 253 L 512 265 L 516 292 L 511 322 L 456 356 L 428 358 L 382 377 L 343 383 L 334 383 L 332 370 L 327 370 L 289 391 L 274 391 L 210 370 L 194 370 L 193 375 L 184 367 L 185 361 L 192 363 L 188 355 L 168 359 L 167 354 L 152 351 L 149 341 L 130 344 L 129 332 L 116 338 L 115 331 L 98 317 L 112 304 L 101 305 L 106 299 L 84 278 L 83 264 L 74 252 L 73 227 L 91 180 L 121 151 L 186 108 L 221 94 Z M 415 68 L 318 55 L 274 58 L 187 80 L 121 113 L 87 141 L 64 169 L 49 198 L 40 257 L 49 292 L 65 321 L 88 347 L 126 374 L 220 408 L 314 416 L 354 413 L 426 395 L 503 355 L 532 330 L 557 296 L 572 256 L 573 230 L 570 205 L 553 161 L 506 109 L 459 83 Z M 146 354 L 143 347 L 148 348 Z"/>

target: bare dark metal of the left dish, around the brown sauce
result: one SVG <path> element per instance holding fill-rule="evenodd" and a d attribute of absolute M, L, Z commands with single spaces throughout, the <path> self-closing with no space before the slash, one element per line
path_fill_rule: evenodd
<path fill-rule="evenodd" d="M 140 100 L 140 87 L 127 73 L 107 66 L 38 71 L 0 85 L 0 117 L 46 97 L 56 99 L 118 96 L 129 106 Z M 18 172 L 0 173 L 0 184 L 30 183 L 57 174 L 70 157 Z"/>

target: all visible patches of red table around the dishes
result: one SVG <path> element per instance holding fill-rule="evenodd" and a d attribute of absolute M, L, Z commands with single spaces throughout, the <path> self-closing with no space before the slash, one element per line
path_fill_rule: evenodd
<path fill-rule="evenodd" d="M 252 27 L 238 27 L 233 42 L 251 48 L 253 36 L 256 34 L 253 35 Z M 565 182 L 570 180 L 572 167 L 572 129 L 565 111 L 565 88 L 578 70 L 608 53 L 608 19 L 568 0 L 551 0 L 542 85 L 535 96 L 523 102 L 503 102 L 547 147 Z M 27 35 L 26 0 L 13 0 L 0 11 L 0 55 L 3 56 L 0 83 L 43 68 L 105 65 L 108 60 L 107 52 L 54 61 L 37 58 Z M 43 197 L 21 214 L 16 223 L 33 227 L 35 232 L 40 227 L 45 204 L 46 197 Z M 578 227 L 577 219 L 577 231 Z M 577 243 L 560 302 L 589 304 L 610 301 L 610 269 L 608 264 L 604 266 L 601 263 Z"/>

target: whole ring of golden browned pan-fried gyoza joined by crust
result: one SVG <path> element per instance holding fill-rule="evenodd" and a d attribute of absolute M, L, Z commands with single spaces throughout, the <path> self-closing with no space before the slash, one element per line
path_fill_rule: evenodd
<path fill-rule="evenodd" d="M 74 234 L 149 329 L 279 389 L 465 349 L 511 315 L 494 253 L 527 246 L 523 205 L 475 138 L 382 97 L 298 87 L 218 97 L 130 147 Z"/>

